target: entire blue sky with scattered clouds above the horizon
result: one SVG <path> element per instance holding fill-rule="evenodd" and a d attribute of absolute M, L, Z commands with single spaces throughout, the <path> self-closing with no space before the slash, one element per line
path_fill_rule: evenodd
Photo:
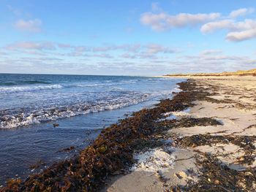
<path fill-rule="evenodd" d="M 0 0 L 0 73 L 256 68 L 256 0 Z"/>

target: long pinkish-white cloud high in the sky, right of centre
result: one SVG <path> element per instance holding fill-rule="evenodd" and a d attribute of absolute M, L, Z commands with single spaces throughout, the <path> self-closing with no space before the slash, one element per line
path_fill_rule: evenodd
<path fill-rule="evenodd" d="M 181 28 L 186 26 L 195 26 L 200 23 L 206 23 L 210 20 L 220 18 L 219 12 L 209 14 L 189 14 L 180 13 L 178 15 L 168 15 L 165 12 L 154 14 L 152 12 L 143 13 L 140 17 L 140 22 L 143 25 L 151 26 L 153 30 L 164 31 L 170 28 Z"/>

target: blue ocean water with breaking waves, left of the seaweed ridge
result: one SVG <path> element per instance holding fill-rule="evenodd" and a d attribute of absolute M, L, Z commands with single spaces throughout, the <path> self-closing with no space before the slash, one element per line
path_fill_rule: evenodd
<path fill-rule="evenodd" d="M 0 185 L 70 158 L 125 114 L 170 98 L 170 78 L 0 74 Z M 53 127 L 53 123 L 59 126 Z M 66 147 L 75 150 L 59 152 Z M 37 169 L 30 166 L 44 162 Z"/>

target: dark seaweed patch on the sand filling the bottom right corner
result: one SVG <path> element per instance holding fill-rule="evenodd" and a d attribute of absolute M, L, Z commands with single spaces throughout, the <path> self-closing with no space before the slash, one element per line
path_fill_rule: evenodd
<path fill-rule="evenodd" d="M 189 186 L 186 191 L 255 191 L 256 170 L 236 171 L 221 164 L 217 158 L 204 154 L 197 158 L 202 166 L 200 181 Z"/>

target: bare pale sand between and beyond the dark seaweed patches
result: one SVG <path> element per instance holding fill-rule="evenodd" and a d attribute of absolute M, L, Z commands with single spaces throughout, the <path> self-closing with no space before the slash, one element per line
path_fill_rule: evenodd
<path fill-rule="evenodd" d="M 103 191 L 165 191 L 173 185 L 197 182 L 200 166 L 195 155 L 214 155 L 230 169 L 255 168 L 252 164 L 241 163 L 245 150 L 232 143 L 208 143 L 197 147 L 181 148 L 173 142 L 175 138 L 197 134 L 256 137 L 256 77 L 195 77 L 197 86 L 214 93 L 212 99 L 219 102 L 196 101 L 195 107 L 186 112 L 170 115 L 193 118 L 214 118 L 219 126 L 194 126 L 173 128 L 163 133 L 168 147 L 150 149 L 147 153 L 135 154 L 137 164 L 132 172 L 113 177 Z M 256 142 L 253 144 L 256 146 Z M 151 151 L 151 153 L 150 153 Z M 256 151 L 251 154 L 256 155 Z M 166 159 L 167 158 L 167 159 Z M 142 161 L 140 160 L 143 159 Z"/>

